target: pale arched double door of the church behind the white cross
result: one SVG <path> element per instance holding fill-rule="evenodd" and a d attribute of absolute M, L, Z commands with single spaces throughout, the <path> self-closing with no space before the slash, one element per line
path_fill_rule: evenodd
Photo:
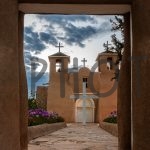
<path fill-rule="evenodd" d="M 85 100 L 86 115 L 83 116 L 83 99 L 78 99 L 75 104 L 75 121 L 83 122 L 83 117 L 86 117 L 86 122 L 94 122 L 95 104 L 93 99 Z"/>

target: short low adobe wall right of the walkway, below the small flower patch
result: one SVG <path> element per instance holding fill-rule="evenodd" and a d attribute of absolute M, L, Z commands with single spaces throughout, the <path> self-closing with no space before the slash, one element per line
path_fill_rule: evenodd
<path fill-rule="evenodd" d="M 114 136 L 118 136 L 118 126 L 114 123 L 100 122 L 99 126 Z"/>

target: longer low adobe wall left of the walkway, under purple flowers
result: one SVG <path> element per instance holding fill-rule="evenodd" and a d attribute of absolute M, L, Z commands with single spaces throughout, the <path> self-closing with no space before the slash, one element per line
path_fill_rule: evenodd
<path fill-rule="evenodd" d="M 42 125 L 28 127 L 28 141 L 65 127 L 66 127 L 65 122 L 42 124 Z"/>

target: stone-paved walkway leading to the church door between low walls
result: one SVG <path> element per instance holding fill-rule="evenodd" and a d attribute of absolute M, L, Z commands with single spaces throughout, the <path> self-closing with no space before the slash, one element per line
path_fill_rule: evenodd
<path fill-rule="evenodd" d="M 97 124 L 68 124 L 66 128 L 30 141 L 28 150 L 117 150 L 117 137 Z"/>

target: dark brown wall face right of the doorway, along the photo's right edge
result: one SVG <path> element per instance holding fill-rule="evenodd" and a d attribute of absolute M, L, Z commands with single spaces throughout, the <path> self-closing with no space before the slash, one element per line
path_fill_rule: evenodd
<path fill-rule="evenodd" d="M 133 150 L 150 149 L 150 1 L 134 0 L 132 107 Z"/>

